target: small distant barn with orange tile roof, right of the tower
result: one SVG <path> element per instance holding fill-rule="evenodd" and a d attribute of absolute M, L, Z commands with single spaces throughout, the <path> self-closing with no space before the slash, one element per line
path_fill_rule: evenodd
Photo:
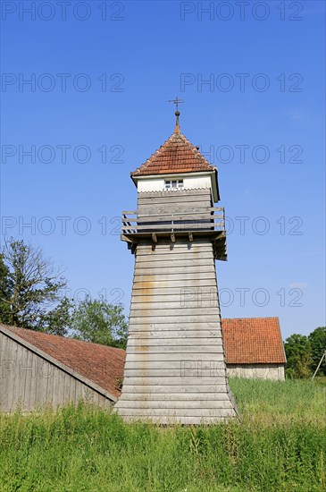
<path fill-rule="evenodd" d="M 229 376 L 285 378 L 279 318 L 224 318 L 222 336 Z"/>

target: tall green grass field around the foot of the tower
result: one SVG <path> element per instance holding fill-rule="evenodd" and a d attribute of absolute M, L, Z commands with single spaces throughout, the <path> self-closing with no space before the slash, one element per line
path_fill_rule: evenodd
<path fill-rule="evenodd" d="M 326 393 L 232 379 L 242 423 L 158 428 L 83 404 L 0 416 L 0 490 L 326 490 Z"/>

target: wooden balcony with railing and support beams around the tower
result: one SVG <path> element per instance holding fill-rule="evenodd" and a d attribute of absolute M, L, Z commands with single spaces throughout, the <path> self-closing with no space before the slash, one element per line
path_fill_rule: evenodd
<path fill-rule="evenodd" d="M 193 242 L 197 236 L 210 236 L 213 242 L 215 259 L 226 258 L 225 216 L 222 207 L 190 208 L 187 211 L 167 213 L 128 210 L 122 212 L 121 240 L 130 243 L 130 248 L 142 239 L 158 242 L 160 238 L 187 237 Z"/>

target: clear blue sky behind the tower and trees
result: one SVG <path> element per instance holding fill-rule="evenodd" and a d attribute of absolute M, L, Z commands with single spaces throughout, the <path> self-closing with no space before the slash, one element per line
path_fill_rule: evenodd
<path fill-rule="evenodd" d="M 2 234 L 62 263 L 69 295 L 128 314 L 119 217 L 178 95 L 219 168 L 222 317 L 279 316 L 284 337 L 325 324 L 324 3 L 245 4 L 2 2 Z"/>

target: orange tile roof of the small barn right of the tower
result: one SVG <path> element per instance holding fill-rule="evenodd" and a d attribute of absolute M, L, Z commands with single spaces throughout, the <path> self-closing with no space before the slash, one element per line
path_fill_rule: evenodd
<path fill-rule="evenodd" d="M 222 319 L 227 364 L 284 364 L 279 318 Z"/>

